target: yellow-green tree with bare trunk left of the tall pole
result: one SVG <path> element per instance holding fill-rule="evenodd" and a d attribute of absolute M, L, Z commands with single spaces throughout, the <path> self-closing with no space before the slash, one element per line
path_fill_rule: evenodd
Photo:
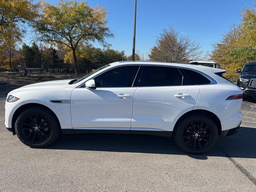
<path fill-rule="evenodd" d="M 37 40 L 70 48 L 78 74 L 76 50 L 79 46 L 91 41 L 107 44 L 106 38 L 113 36 L 106 27 L 106 9 L 77 1 L 59 1 L 56 5 L 41 1 L 41 4 L 42 13 L 34 22 Z"/>

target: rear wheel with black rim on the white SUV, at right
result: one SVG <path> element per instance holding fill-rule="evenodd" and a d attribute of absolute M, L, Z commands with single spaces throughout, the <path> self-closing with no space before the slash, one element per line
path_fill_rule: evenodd
<path fill-rule="evenodd" d="M 212 149 L 218 139 L 218 128 L 208 116 L 195 114 L 182 120 L 174 132 L 178 147 L 190 154 L 202 154 Z M 208 141 L 208 142 L 207 142 Z"/>

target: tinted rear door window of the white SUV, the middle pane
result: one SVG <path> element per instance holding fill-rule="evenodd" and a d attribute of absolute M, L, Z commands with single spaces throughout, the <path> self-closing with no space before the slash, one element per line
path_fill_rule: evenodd
<path fill-rule="evenodd" d="M 182 74 L 175 67 L 144 66 L 139 86 L 182 85 Z"/>

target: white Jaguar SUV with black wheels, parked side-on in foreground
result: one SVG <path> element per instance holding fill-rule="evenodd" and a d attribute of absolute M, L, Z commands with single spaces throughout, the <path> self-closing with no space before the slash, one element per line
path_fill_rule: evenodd
<path fill-rule="evenodd" d="M 242 122 L 242 90 L 225 70 L 192 64 L 114 62 L 79 80 L 57 80 L 10 92 L 5 125 L 30 147 L 60 134 L 173 136 L 189 153 L 210 150 Z"/>

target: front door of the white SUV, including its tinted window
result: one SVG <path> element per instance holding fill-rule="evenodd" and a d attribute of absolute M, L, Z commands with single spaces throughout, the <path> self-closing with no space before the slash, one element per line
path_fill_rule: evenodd
<path fill-rule="evenodd" d="M 70 99 L 73 129 L 130 130 L 140 66 L 118 66 L 92 78 L 96 89 L 75 88 Z"/>

